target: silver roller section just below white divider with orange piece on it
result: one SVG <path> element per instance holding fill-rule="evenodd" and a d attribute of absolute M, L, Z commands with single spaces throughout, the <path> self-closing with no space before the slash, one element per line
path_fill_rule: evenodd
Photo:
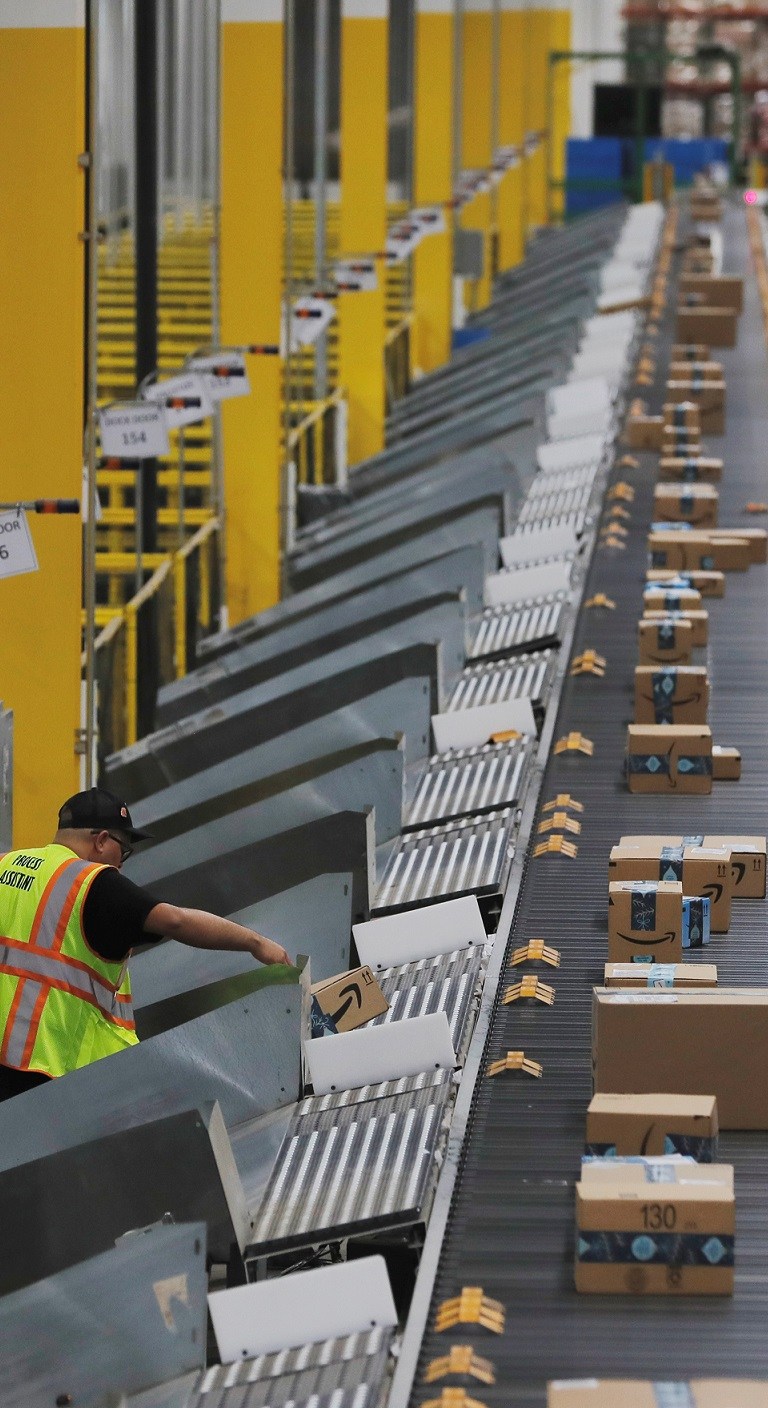
<path fill-rule="evenodd" d="M 434 753 L 416 772 L 403 831 L 516 805 L 526 786 L 528 762 L 530 746 L 524 739 Z"/>

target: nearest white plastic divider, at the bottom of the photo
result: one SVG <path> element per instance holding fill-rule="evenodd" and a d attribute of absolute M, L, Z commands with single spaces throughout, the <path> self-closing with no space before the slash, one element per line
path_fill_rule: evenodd
<path fill-rule="evenodd" d="M 223 1364 L 397 1324 L 383 1256 L 211 1291 L 209 1309 Z"/>

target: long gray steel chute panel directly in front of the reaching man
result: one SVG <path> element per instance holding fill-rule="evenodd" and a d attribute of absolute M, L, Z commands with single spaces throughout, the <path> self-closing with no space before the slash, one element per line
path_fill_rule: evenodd
<path fill-rule="evenodd" d="M 235 993 L 249 986 L 244 976 L 230 984 Z M 220 1001 L 227 984 L 214 987 Z M 196 997 L 204 1001 L 204 993 Z M 138 1046 L 6 1100 L 0 1104 L 0 1169 L 213 1101 L 230 1126 L 297 1100 L 303 1004 L 296 972 L 295 981 L 249 991 Z"/>

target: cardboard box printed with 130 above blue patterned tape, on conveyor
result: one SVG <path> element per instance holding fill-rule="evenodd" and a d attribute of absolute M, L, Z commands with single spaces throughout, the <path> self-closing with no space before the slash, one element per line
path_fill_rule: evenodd
<path fill-rule="evenodd" d="M 576 1290 L 731 1295 L 733 1167 L 682 1160 L 655 1167 L 651 1159 L 612 1169 L 614 1163 L 606 1159 L 602 1170 L 586 1164 L 576 1184 Z"/>

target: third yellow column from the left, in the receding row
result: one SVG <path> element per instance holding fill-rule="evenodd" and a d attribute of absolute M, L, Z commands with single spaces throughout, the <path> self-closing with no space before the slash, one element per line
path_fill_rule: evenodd
<path fill-rule="evenodd" d="M 389 111 L 388 0 L 341 3 L 340 252 L 372 253 L 386 241 Z M 379 287 L 338 297 L 340 383 L 349 397 L 349 463 L 385 444 L 385 265 Z"/>

